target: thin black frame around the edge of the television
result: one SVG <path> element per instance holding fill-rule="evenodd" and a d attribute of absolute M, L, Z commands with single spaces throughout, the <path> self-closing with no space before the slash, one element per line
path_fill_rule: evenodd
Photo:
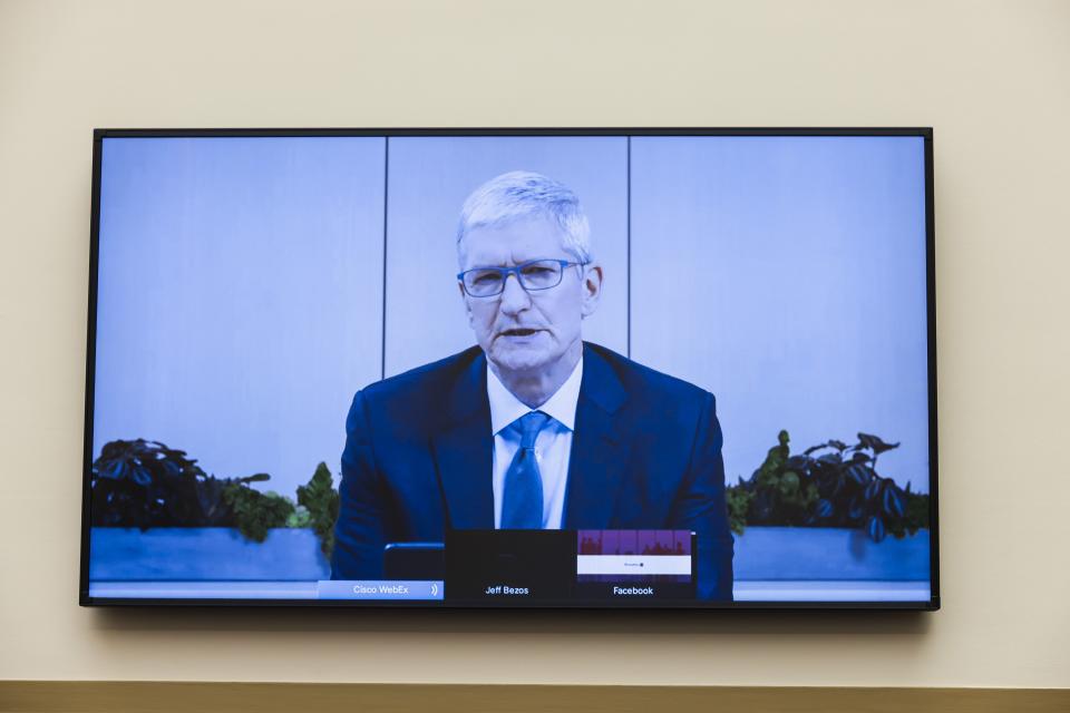
<path fill-rule="evenodd" d="M 96 326 L 97 277 L 100 229 L 100 168 L 105 138 L 205 138 L 205 137 L 463 137 L 463 136 L 911 136 L 924 139 L 925 155 L 925 275 L 926 319 L 928 339 L 928 492 L 930 492 L 930 599 L 927 602 L 672 602 L 599 604 L 599 603 L 451 603 L 439 602 L 379 602 L 379 600 L 319 600 L 319 599 L 223 599 L 223 598 L 121 598 L 89 596 L 89 536 L 93 476 L 93 418 L 96 377 Z M 85 432 L 82 445 L 82 502 L 81 502 L 81 561 L 79 572 L 80 606 L 118 607 L 310 607 L 353 609 L 409 609 L 424 611 L 640 611 L 659 612 L 711 612 L 711 611 L 922 611 L 940 609 L 940 530 L 937 498 L 937 428 L 936 428 L 936 267 L 935 267 L 935 217 L 933 186 L 933 128 L 932 127 L 823 127 L 823 128 L 275 128 L 275 129 L 94 129 L 93 133 L 93 189 L 89 225 L 89 304 L 87 314 L 86 345 L 86 401 Z"/>

